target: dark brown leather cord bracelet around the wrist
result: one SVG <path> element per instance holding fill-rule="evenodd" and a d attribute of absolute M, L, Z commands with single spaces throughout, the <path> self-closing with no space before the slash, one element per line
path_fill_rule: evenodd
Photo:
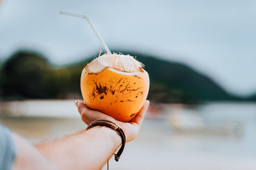
<path fill-rule="evenodd" d="M 114 153 L 115 160 L 117 162 L 118 159 L 120 158 L 120 155 L 124 151 L 124 146 L 125 146 L 125 141 L 126 141 L 124 131 L 121 129 L 121 127 L 119 125 L 117 125 L 114 122 L 111 122 L 109 120 L 95 120 L 88 125 L 86 130 L 91 129 L 92 127 L 95 127 L 97 125 L 106 126 L 106 127 L 109 127 L 111 129 L 115 130 L 122 138 L 122 146 L 120 147 L 120 149 L 118 150 L 118 152 L 116 154 Z"/>

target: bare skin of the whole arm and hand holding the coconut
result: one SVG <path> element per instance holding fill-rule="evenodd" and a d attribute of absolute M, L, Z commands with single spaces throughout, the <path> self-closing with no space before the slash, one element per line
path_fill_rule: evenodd
<path fill-rule="evenodd" d="M 90 124 L 99 119 L 111 120 L 122 127 L 127 141 L 138 136 L 148 104 L 146 101 L 138 115 L 131 122 L 124 123 L 90 110 L 82 101 L 76 102 L 84 123 Z M 101 126 L 38 146 L 31 145 L 15 133 L 13 139 L 17 150 L 13 169 L 101 169 L 121 145 L 121 138 L 116 131 Z"/>

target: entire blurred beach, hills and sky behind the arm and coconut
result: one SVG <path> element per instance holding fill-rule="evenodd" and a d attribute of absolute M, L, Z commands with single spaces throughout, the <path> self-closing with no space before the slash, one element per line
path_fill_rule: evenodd
<path fill-rule="evenodd" d="M 256 169 L 256 1 L 0 3 L 0 122 L 34 144 L 85 128 L 74 102 L 102 45 L 150 76 L 140 135 L 111 169 Z"/>

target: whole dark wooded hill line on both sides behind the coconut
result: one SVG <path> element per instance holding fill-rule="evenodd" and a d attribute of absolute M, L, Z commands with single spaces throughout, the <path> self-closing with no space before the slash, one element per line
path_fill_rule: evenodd
<path fill-rule="evenodd" d="M 130 53 L 145 64 L 150 76 L 148 99 L 164 103 L 239 100 L 227 94 L 211 78 L 184 64 Z M 81 71 L 92 57 L 67 66 L 53 66 L 42 55 L 20 51 L 1 67 L 3 99 L 63 99 L 81 97 Z"/>

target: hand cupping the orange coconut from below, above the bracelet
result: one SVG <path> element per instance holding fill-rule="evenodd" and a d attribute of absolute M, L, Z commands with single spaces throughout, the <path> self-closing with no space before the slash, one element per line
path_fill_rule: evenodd
<path fill-rule="evenodd" d="M 120 125 L 120 127 L 123 129 L 125 133 L 126 142 L 129 142 L 138 136 L 141 124 L 143 122 L 143 118 L 148 109 L 148 105 L 149 105 L 149 101 L 145 101 L 139 113 L 130 122 L 120 122 L 115 120 L 112 117 L 109 117 L 104 113 L 101 113 L 100 111 L 90 110 L 83 101 L 78 101 L 78 100 L 76 101 L 77 109 L 85 124 L 89 125 L 94 120 L 99 120 L 99 119 L 112 121 L 115 124 Z"/>

